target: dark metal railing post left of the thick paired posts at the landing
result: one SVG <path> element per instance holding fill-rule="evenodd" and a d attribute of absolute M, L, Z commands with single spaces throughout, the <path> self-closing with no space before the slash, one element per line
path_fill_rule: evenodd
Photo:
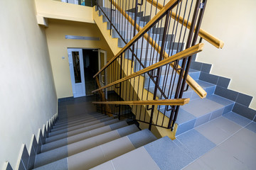
<path fill-rule="evenodd" d="M 163 33 L 163 38 L 162 38 L 162 43 L 161 43 L 161 52 L 160 52 L 159 62 L 161 60 L 163 60 L 164 46 L 165 46 L 165 43 L 166 43 L 166 34 L 167 34 L 167 28 L 168 28 L 168 24 L 169 24 L 169 16 L 170 16 L 170 10 L 168 10 L 167 13 L 166 13 L 166 21 L 164 23 L 164 33 Z M 153 100 L 156 100 L 156 94 L 157 94 L 157 89 L 158 89 L 158 86 L 159 86 L 160 76 L 161 76 L 161 68 L 159 67 L 157 69 L 157 74 L 156 74 L 156 84 L 155 84 L 155 89 L 154 89 Z M 153 115 L 154 115 L 154 105 L 151 108 L 151 115 L 150 115 L 150 120 L 149 120 L 149 130 L 151 130 Z"/>

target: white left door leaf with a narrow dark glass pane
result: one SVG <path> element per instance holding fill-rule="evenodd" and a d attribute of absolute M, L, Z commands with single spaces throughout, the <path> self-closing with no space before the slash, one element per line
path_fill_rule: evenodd
<path fill-rule="evenodd" d="M 85 72 L 82 49 L 68 48 L 68 62 L 74 98 L 85 96 Z"/>

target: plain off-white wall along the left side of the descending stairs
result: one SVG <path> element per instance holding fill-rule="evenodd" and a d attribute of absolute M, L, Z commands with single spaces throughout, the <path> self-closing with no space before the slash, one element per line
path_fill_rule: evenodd
<path fill-rule="evenodd" d="M 0 1 L 0 169 L 57 112 L 44 28 L 33 1 Z"/>

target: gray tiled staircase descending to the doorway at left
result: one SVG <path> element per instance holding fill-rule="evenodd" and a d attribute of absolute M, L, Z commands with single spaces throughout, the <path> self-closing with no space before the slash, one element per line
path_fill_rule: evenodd
<path fill-rule="evenodd" d="M 90 104 L 87 107 L 95 108 Z M 68 117 L 65 111 L 59 113 L 59 120 L 48 133 L 40 154 L 36 155 L 34 169 L 105 169 L 111 166 L 110 160 L 119 169 L 126 169 L 127 165 L 120 163 L 128 157 L 138 162 L 137 158 L 142 156 L 145 162 L 139 161 L 141 167 L 159 169 L 145 147 L 157 145 L 161 140 L 149 130 L 129 125 L 128 120 L 118 120 L 92 110 L 83 114 L 73 112 Z M 134 168 L 139 164 L 134 164 Z"/>

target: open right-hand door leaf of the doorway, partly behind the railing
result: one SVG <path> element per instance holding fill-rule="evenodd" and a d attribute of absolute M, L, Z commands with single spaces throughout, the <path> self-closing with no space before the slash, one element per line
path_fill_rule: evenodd
<path fill-rule="evenodd" d="M 107 64 L 107 52 L 104 50 L 98 50 L 98 61 L 99 61 L 99 70 L 102 69 L 102 67 Z M 105 86 L 107 84 L 107 72 L 101 72 L 99 81 L 100 81 L 100 86 Z M 107 89 L 105 89 L 105 98 L 107 98 Z"/>

